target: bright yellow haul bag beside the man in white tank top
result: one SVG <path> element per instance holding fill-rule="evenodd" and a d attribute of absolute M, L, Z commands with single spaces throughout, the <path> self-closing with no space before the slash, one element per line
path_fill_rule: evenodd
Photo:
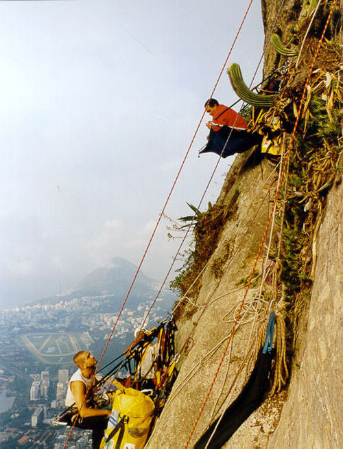
<path fill-rule="evenodd" d="M 143 449 L 149 433 L 154 402 L 141 391 L 118 388 L 114 393 L 112 415 L 100 449 Z"/>

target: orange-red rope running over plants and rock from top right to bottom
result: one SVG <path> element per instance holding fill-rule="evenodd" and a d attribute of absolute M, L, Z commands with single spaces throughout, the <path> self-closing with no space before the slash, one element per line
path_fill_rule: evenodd
<path fill-rule="evenodd" d="M 280 189 L 281 189 L 281 184 L 282 184 L 282 181 L 283 181 L 283 176 L 285 175 L 285 169 L 286 169 L 286 167 L 287 167 L 289 155 L 290 155 L 290 152 L 291 152 L 291 149 L 292 149 L 292 146 L 293 146 L 294 137 L 295 137 L 295 134 L 296 134 L 296 129 L 298 128 L 298 123 L 299 123 L 299 120 L 300 120 L 300 115 L 301 115 L 301 113 L 302 113 L 302 111 L 303 111 L 303 105 L 304 105 L 305 95 L 306 95 L 306 92 L 307 92 L 307 85 L 309 84 L 309 79 L 311 78 L 311 74 L 312 74 L 312 72 L 313 72 L 313 70 L 314 70 L 314 64 L 316 63 L 316 60 L 317 60 L 317 58 L 318 58 L 318 54 L 319 54 L 319 51 L 320 51 L 320 47 L 322 46 L 322 41 L 323 41 L 323 39 L 324 39 L 324 34 L 325 34 L 325 32 L 327 31 L 327 27 L 328 27 L 328 25 L 329 25 L 329 22 L 330 22 L 330 19 L 331 19 L 331 15 L 332 15 L 332 13 L 333 13 L 333 8 L 335 7 L 335 3 L 336 3 L 336 0 L 333 0 L 333 3 L 332 3 L 332 5 L 331 5 L 331 10 L 330 10 L 329 16 L 328 16 L 328 18 L 327 18 L 327 22 L 325 23 L 324 30 L 323 30 L 323 32 L 322 32 L 322 36 L 320 37 L 320 41 L 318 42 L 318 46 L 317 46 L 317 49 L 316 49 L 316 54 L 314 54 L 314 58 L 313 58 L 313 60 L 312 60 L 311 67 L 309 68 L 309 73 L 308 73 L 307 80 L 306 80 L 306 82 L 305 82 L 305 86 L 304 86 L 304 89 L 303 89 L 303 95 L 302 95 L 302 97 L 301 97 L 300 105 L 299 105 L 299 108 L 298 108 L 298 115 L 297 115 L 297 117 L 296 117 L 296 122 L 295 122 L 295 124 L 294 124 L 294 128 L 293 128 L 293 131 L 292 131 L 291 138 L 290 138 L 290 140 L 289 140 L 289 145 L 288 145 L 287 152 L 286 152 L 286 157 L 285 157 L 285 165 L 283 166 L 283 171 L 282 171 L 282 173 L 281 173 L 280 183 L 279 183 L 278 188 L 276 189 L 275 198 L 274 198 L 274 203 L 273 203 L 273 205 L 272 205 L 272 210 L 270 211 L 270 216 L 269 216 L 269 218 L 268 218 L 267 224 L 265 225 L 265 231 L 264 231 L 264 233 L 263 233 L 263 237 L 262 237 L 262 240 L 261 240 L 261 244 L 260 244 L 260 246 L 259 246 L 259 251 L 257 252 L 257 257 L 256 257 L 256 259 L 255 259 L 255 263 L 254 263 L 254 266 L 253 266 L 253 268 L 252 268 L 252 272 L 250 273 L 250 277 L 249 277 L 249 281 L 248 281 L 248 286 L 247 286 L 247 288 L 246 288 L 246 292 L 244 293 L 244 297 L 243 297 L 243 299 L 241 300 L 241 305 L 239 306 L 239 310 L 238 310 L 238 312 L 237 312 L 237 316 L 236 316 L 236 319 L 235 319 L 235 323 L 233 324 L 233 328 L 232 328 L 232 330 L 230 331 L 230 336 L 229 336 L 228 341 L 227 341 L 227 343 L 226 343 L 226 346 L 225 346 L 225 348 L 224 348 L 224 354 L 222 355 L 222 358 L 221 358 L 221 360 L 220 360 L 220 364 L 219 364 L 218 367 L 217 367 L 217 371 L 215 371 L 215 376 L 214 376 L 213 381 L 212 381 L 212 383 L 211 383 L 209 392 L 207 393 L 206 398 L 205 398 L 205 400 L 204 400 L 204 403 L 202 404 L 202 408 L 200 409 L 200 412 L 199 412 L 199 414 L 198 414 L 198 417 L 197 417 L 197 419 L 196 419 L 196 422 L 195 422 L 195 424 L 194 424 L 194 426 L 193 426 L 193 428 L 192 428 L 192 430 L 191 430 L 191 434 L 189 435 L 189 438 L 187 439 L 187 442 L 186 442 L 186 445 L 185 445 L 185 449 L 187 449 L 188 446 L 189 446 L 189 442 L 191 441 L 191 437 L 193 436 L 193 433 L 194 433 L 194 431 L 196 430 L 196 426 L 198 426 L 199 419 L 200 419 L 200 417 L 201 417 L 201 415 L 202 415 L 202 412 L 204 411 L 204 408 L 205 408 L 205 406 L 206 406 L 206 403 L 207 403 L 208 400 L 209 400 L 209 396 L 210 396 L 211 391 L 212 391 L 212 389 L 213 389 L 213 386 L 214 386 L 214 384 L 215 384 L 215 380 L 217 379 L 217 376 L 218 376 L 218 374 L 219 374 L 220 368 L 222 367 L 222 364 L 223 364 L 223 362 L 224 362 L 224 358 L 225 358 L 225 356 L 226 356 L 226 352 L 228 351 L 228 347 L 229 347 L 230 342 L 231 342 L 231 340 L 232 340 L 232 338 L 233 338 L 233 334 L 234 334 L 234 332 L 235 332 L 235 328 L 237 327 L 237 322 L 238 322 L 238 320 L 239 320 L 239 316 L 240 316 L 240 314 L 241 314 L 241 310 L 242 310 L 242 308 L 243 308 L 243 306 L 244 306 L 244 301 L 246 300 L 246 296 L 248 295 L 248 290 L 249 290 L 249 288 L 250 288 L 250 284 L 251 284 L 251 281 L 252 281 L 252 277 L 253 277 L 254 274 L 255 274 L 255 268 L 256 268 L 257 262 L 258 262 L 258 260 L 259 260 L 259 255 L 261 254 L 261 250 L 262 250 L 262 248 L 263 248 L 263 244 L 264 244 L 264 242 L 265 242 L 265 238 L 267 237 L 267 233 L 268 233 L 270 221 L 272 220 L 272 214 L 273 214 L 273 212 L 274 212 L 274 208 L 276 207 L 276 201 L 277 201 L 277 199 L 278 199 L 279 192 L 280 192 Z"/>

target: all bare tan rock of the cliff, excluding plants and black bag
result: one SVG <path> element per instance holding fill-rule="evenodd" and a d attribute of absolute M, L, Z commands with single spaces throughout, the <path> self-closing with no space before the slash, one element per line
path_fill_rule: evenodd
<path fill-rule="evenodd" d="M 262 0 L 265 36 L 281 5 L 274 31 L 286 36 L 308 3 L 312 2 Z M 277 58 L 275 50 L 268 49 L 265 73 Z M 182 306 L 176 333 L 176 350 L 182 352 L 180 373 L 145 446 L 148 449 L 193 448 L 209 424 L 237 398 L 252 371 L 257 323 L 268 320 L 270 313 L 268 277 L 261 279 L 261 273 L 277 252 L 279 222 L 272 219 L 265 234 L 278 183 L 276 165 L 250 159 L 237 156 L 217 200 L 217 205 L 230 205 L 232 214 L 199 273 L 198 295 L 186 295 Z M 341 179 L 327 196 L 314 248 L 311 299 L 300 323 L 289 386 L 265 400 L 225 449 L 343 447 L 342 198 Z M 255 277 L 246 293 L 254 266 Z"/>

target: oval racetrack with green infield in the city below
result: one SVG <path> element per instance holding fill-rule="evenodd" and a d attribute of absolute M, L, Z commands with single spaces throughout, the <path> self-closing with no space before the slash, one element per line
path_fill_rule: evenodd
<path fill-rule="evenodd" d="M 21 347 L 25 347 L 40 362 L 48 365 L 71 362 L 74 354 L 84 349 L 84 343 L 78 334 L 23 334 L 16 338 Z"/>

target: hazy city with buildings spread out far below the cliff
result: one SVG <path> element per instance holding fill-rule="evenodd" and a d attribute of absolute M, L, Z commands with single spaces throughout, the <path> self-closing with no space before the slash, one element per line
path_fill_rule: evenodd
<path fill-rule="evenodd" d="M 155 299 L 156 283 L 142 286 L 118 321 L 122 298 L 114 292 L 93 296 L 69 292 L 55 301 L 0 311 L 1 449 L 64 447 L 70 428 L 53 426 L 51 419 L 64 411 L 67 384 L 76 370 L 73 355 L 87 349 L 99 360 L 116 322 L 102 366 L 122 354 Z M 165 319 L 174 299 L 163 290 L 145 327 Z M 106 374 L 101 367 L 99 374 Z M 91 432 L 73 430 L 68 448 L 91 448 Z"/>

